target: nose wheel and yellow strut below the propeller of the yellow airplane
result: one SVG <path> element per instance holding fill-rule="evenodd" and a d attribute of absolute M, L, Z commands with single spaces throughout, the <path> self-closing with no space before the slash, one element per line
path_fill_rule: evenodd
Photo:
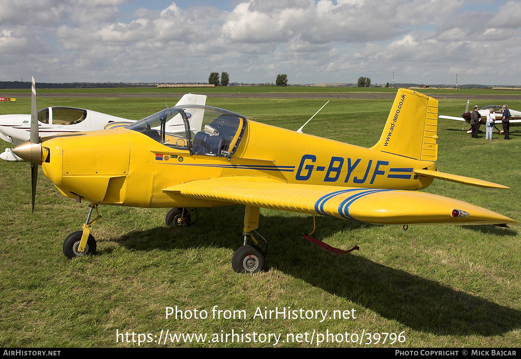
<path fill-rule="evenodd" d="M 96 208 L 97 217 L 91 221 L 92 210 L 94 208 Z M 63 252 L 67 258 L 72 259 L 96 253 L 96 240 L 89 232 L 90 226 L 100 218 L 97 204 L 91 203 L 89 205 L 87 220 L 83 224 L 83 230 L 70 233 L 64 241 Z"/>

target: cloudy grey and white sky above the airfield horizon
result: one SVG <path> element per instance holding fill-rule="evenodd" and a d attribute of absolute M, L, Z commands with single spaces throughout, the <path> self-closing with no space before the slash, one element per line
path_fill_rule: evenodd
<path fill-rule="evenodd" d="M 0 81 L 521 85 L 521 2 L 0 0 Z"/>

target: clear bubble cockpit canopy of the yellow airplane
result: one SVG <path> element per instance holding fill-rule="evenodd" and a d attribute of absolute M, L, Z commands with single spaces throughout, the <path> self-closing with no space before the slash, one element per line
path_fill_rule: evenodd
<path fill-rule="evenodd" d="M 127 128 L 191 154 L 231 156 L 246 128 L 246 118 L 217 107 L 186 105 L 166 108 Z"/>

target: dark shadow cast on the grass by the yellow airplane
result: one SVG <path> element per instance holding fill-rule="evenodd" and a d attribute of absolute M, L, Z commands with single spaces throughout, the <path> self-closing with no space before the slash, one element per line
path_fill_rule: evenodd
<path fill-rule="evenodd" d="M 235 250 L 242 244 L 243 208 L 200 209 L 202 218 L 195 226 L 133 231 L 111 241 L 138 251 L 201 246 Z M 215 218 L 219 221 L 216 222 Z M 321 219 L 320 236 L 331 236 L 341 230 L 356 231 L 364 226 L 367 225 L 335 218 Z M 422 332 L 489 337 L 521 328 L 521 311 L 378 264 L 360 255 L 328 252 L 295 234 L 294 228 L 309 227 L 308 217 L 261 216 L 263 236 L 269 241 L 269 268 L 277 268 Z M 496 231 L 499 229 L 485 230 L 498 234 Z"/>

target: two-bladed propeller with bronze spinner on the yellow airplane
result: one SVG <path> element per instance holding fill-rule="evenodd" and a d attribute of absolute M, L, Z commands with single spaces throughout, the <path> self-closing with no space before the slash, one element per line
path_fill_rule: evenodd
<path fill-rule="evenodd" d="M 31 163 L 32 212 L 34 213 L 38 165 L 42 164 L 42 143 L 38 132 L 38 110 L 36 109 L 36 86 L 34 84 L 34 78 L 32 78 L 31 82 L 31 92 L 31 135 L 29 141 L 20 143 L 14 148 L 13 152 Z"/>

